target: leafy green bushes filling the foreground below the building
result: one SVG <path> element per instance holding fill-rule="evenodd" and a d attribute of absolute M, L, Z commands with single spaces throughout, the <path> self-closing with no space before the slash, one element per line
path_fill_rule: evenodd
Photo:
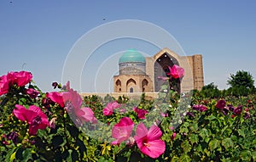
<path fill-rule="evenodd" d="M 37 98 L 26 94 L 28 87 L 39 92 Z M 84 133 L 73 123 L 67 109 L 58 103 L 45 102 L 46 94 L 34 83 L 26 87 L 14 86 L 0 97 L 0 161 L 255 161 L 256 96 L 226 96 L 223 98 L 224 109 L 217 109 L 218 96 L 207 95 L 216 88 L 210 84 L 203 88 L 204 95 L 195 92 L 192 100 L 180 97 L 166 85 L 154 100 L 147 100 L 145 93 L 140 100 L 125 96 L 84 97 L 83 106 L 90 107 L 98 120 L 108 124 L 109 127 L 96 130 L 96 133 L 110 137 L 106 140 Z M 125 107 L 114 109 L 113 115 L 103 115 L 102 110 L 113 101 L 125 104 Z M 49 127 L 30 136 L 28 123 L 12 114 L 15 104 L 41 108 L 49 118 Z M 150 112 L 146 120 L 138 118 L 132 110 L 134 105 Z M 194 105 L 203 105 L 207 109 L 194 109 Z M 234 111 L 239 106 L 242 106 L 240 114 Z M 147 127 L 152 126 L 152 122 L 158 125 L 162 131 L 161 140 L 166 144 L 164 154 L 152 159 L 129 140 L 112 145 L 109 142 L 113 140 L 111 127 L 125 116 L 135 124 L 143 121 Z"/>

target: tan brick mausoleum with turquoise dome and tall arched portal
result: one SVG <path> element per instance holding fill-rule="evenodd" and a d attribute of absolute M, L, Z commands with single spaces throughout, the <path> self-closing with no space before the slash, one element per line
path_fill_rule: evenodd
<path fill-rule="evenodd" d="M 180 92 L 201 90 L 204 86 L 201 54 L 179 56 L 168 48 L 160 50 L 153 57 L 144 57 L 136 50 L 128 50 L 119 58 L 119 75 L 113 76 L 114 92 L 158 92 L 166 76 L 168 66 L 183 67 L 185 75 L 179 85 Z"/>

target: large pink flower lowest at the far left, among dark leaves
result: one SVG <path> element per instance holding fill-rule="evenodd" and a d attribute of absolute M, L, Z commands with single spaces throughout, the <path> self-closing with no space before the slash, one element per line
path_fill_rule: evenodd
<path fill-rule="evenodd" d="M 47 116 L 37 106 L 29 106 L 28 109 L 16 104 L 13 114 L 21 121 L 26 121 L 29 124 L 29 135 L 33 136 L 38 133 L 38 129 L 44 130 L 49 126 Z"/>

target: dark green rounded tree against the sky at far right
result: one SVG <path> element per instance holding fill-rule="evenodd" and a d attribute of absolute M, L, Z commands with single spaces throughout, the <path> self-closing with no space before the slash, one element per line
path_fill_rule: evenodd
<path fill-rule="evenodd" d="M 247 71 L 239 70 L 236 72 L 236 75 L 230 75 L 228 85 L 231 87 L 246 87 L 247 89 L 253 89 L 253 76 Z"/>

